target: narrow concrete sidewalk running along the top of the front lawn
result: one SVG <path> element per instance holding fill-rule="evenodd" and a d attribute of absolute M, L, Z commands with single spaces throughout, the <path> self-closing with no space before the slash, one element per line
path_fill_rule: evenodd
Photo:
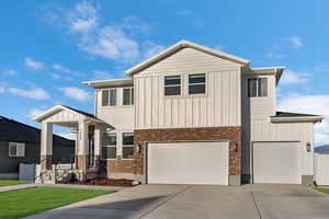
<path fill-rule="evenodd" d="M 84 189 L 105 189 L 105 191 L 122 191 L 126 187 L 118 186 L 97 186 L 97 185 L 75 185 L 75 184 L 19 184 L 19 185 L 10 185 L 0 187 L 0 193 L 9 192 L 9 191 L 18 191 L 24 188 L 33 188 L 33 187 L 63 187 L 63 188 L 84 188 Z"/>

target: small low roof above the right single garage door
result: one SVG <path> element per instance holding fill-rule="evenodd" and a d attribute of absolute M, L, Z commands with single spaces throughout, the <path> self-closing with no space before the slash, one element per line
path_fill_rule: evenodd
<path fill-rule="evenodd" d="M 275 116 L 271 116 L 271 122 L 321 122 L 325 117 L 314 114 L 300 114 L 288 112 L 276 112 Z"/>

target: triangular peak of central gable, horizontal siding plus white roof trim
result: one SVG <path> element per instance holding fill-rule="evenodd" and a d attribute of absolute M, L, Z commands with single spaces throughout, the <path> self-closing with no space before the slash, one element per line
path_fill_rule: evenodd
<path fill-rule="evenodd" d="M 189 68 L 192 70 L 196 68 L 203 70 L 202 67 L 237 67 L 248 65 L 249 60 L 247 59 L 182 41 L 125 72 L 132 76 L 140 71 L 189 70 Z"/>

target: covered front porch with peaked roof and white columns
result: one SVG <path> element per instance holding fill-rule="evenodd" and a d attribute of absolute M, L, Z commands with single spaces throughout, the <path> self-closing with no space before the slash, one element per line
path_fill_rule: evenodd
<path fill-rule="evenodd" d="M 56 182 L 53 158 L 53 126 L 59 125 L 76 130 L 76 148 L 71 163 L 71 173 L 79 181 L 86 181 L 89 175 L 98 177 L 101 157 L 101 131 L 104 122 L 68 106 L 56 105 L 34 118 L 42 125 L 41 135 L 41 173 L 42 183 Z M 90 177 L 90 176 L 89 176 Z"/>

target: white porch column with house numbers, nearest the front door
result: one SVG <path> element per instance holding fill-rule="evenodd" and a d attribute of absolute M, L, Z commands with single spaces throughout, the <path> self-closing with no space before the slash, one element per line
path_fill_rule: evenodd
<path fill-rule="evenodd" d="M 88 157 L 88 125 L 83 120 L 78 125 L 78 143 L 77 143 L 77 168 L 80 171 L 87 171 L 87 157 Z"/>

